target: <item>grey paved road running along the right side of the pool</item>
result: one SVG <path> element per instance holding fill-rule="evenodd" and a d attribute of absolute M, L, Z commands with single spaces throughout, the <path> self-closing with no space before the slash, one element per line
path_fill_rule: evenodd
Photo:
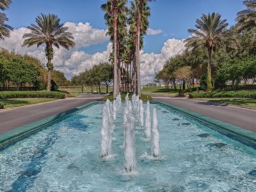
<path fill-rule="evenodd" d="M 233 124 L 256 132 L 256 110 L 228 106 L 211 101 L 198 101 L 184 98 L 170 98 L 164 95 L 153 95 L 153 100 L 164 101 L 171 105 L 182 107 L 198 114 L 212 117 L 220 121 Z"/>

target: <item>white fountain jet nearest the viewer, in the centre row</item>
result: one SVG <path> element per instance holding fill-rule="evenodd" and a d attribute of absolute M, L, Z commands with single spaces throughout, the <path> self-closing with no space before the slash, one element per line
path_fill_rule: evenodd
<path fill-rule="evenodd" d="M 131 115 L 131 113 L 126 114 L 126 118 L 127 118 L 127 121 L 124 124 L 124 131 L 125 131 L 124 167 L 125 167 L 125 171 L 129 173 L 136 169 L 135 145 L 134 145 L 135 118 Z"/>

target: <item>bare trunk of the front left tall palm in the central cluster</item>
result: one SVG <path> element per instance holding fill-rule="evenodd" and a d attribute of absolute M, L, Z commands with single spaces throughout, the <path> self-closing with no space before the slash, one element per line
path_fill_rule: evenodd
<path fill-rule="evenodd" d="M 117 10 L 114 9 L 114 87 L 113 98 L 116 98 L 119 92 L 118 82 L 118 62 L 117 62 Z"/>

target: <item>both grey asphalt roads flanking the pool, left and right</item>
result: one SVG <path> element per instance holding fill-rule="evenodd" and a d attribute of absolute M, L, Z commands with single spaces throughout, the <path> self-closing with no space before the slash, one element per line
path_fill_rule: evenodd
<path fill-rule="evenodd" d="M 171 98 L 165 95 L 152 96 L 154 100 L 164 101 L 198 114 L 256 132 L 256 110 L 232 107 L 210 101 L 204 102 L 191 99 Z M 63 99 L 6 111 L 0 110 L 0 133 L 59 114 L 91 101 L 101 100 L 103 97 L 105 97 L 104 94 L 82 94 L 79 98 Z"/>

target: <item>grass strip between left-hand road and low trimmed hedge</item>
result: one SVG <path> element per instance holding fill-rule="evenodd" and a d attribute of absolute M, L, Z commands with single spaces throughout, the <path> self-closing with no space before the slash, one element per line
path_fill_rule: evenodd
<path fill-rule="evenodd" d="M 54 101 L 53 98 L 15 98 L 15 99 L 0 99 L 0 102 L 4 103 L 4 108 L 12 108 L 30 105 L 34 103 L 41 103 L 46 101 Z"/>

